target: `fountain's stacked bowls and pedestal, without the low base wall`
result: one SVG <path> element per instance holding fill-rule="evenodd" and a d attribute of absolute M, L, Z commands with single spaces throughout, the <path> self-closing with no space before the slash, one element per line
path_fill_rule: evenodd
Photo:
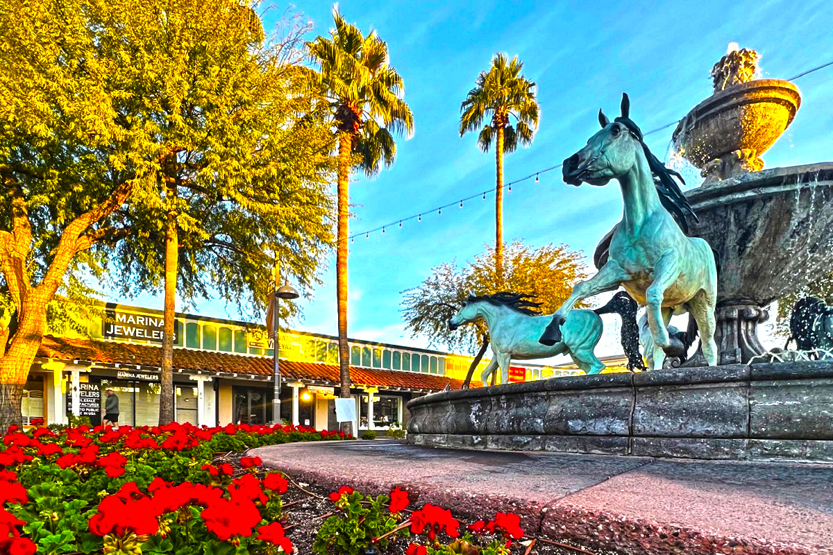
<path fill-rule="evenodd" d="M 761 154 L 786 131 L 801 96 L 791 82 L 755 79 L 757 59 L 746 48 L 722 57 L 711 70 L 714 94 L 673 135 L 705 178 L 686 196 L 700 218 L 692 234 L 718 255 L 721 364 L 765 353 L 757 325 L 766 307 L 831 268 L 833 163 L 763 169 Z"/>

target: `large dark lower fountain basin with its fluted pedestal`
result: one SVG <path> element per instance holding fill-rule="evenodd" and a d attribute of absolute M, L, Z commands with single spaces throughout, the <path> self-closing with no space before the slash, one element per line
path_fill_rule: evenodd
<path fill-rule="evenodd" d="M 720 364 L 749 362 L 766 352 L 766 307 L 833 268 L 833 162 L 706 181 L 686 197 L 700 218 L 691 235 L 717 253 Z"/>

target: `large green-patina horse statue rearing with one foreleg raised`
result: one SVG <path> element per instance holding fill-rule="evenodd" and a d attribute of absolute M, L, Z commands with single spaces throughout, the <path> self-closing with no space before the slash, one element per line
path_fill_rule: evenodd
<path fill-rule="evenodd" d="M 642 131 L 629 117 L 630 101 L 622 95 L 621 116 L 614 121 L 599 111 L 601 131 L 564 161 L 569 185 L 604 186 L 619 181 L 624 201 L 622 219 L 612 231 L 601 270 L 576 285 L 541 335 L 542 344 L 561 338 L 560 326 L 580 300 L 621 285 L 647 307 L 656 349 L 671 346 L 666 326 L 671 315 L 688 310 L 700 330 L 706 362 L 717 363 L 715 303 L 717 269 L 706 240 L 687 237 L 686 216 L 696 219 L 673 176 L 642 141 Z"/>

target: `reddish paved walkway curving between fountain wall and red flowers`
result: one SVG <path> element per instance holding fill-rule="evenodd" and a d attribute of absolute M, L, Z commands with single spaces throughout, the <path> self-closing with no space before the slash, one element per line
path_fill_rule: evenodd
<path fill-rule="evenodd" d="M 258 448 L 324 487 L 407 488 L 419 504 L 633 555 L 833 555 L 833 465 L 430 448 L 393 440 Z"/>

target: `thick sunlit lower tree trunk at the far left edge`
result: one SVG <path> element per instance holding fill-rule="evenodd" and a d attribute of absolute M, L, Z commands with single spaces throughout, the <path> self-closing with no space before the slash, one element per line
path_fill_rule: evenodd
<path fill-rule="evenodd" d="M 17 332 L 0 358 L 0 434 L 5 434 L 10 425 L 21 425 L 23 387 L 47 329 L 48 300 L 43 291 L 30 290 L 27 296 L 29 299 L 18 310 Z"/>

